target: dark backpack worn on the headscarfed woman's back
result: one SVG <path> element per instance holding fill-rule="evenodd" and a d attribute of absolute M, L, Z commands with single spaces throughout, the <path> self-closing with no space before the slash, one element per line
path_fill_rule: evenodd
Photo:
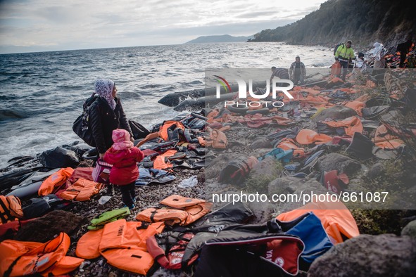
<path fill-rule="evenodd" d="M 73 130 L 89 146 L 95 146 L 95 141 L 92 136 L 92 130 L 89 126 L 89 108 L 96 101 L 98 96 L 95 93 L 90 96 L 83 105 L 82 114 L 73 123 Z"/>

